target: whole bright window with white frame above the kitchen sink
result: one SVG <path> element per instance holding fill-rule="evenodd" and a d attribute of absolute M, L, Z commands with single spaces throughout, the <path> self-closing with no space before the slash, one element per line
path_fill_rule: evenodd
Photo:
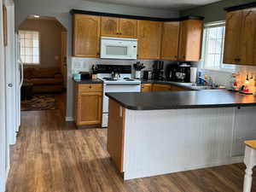
<path fill-rule="evenodd" d="M 205 26 L 202 67 L 210 69 L 236 69 L 234 65 L 223 63 L 224 22 L 210 23 Z"/>

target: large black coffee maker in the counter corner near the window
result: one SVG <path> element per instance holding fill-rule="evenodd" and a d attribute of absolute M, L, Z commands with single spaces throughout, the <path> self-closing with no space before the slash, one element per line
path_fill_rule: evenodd
<path fill-rule="evenodd" d="M 166 67 L 166 80 L 189 83 L 190 67 L 190 63 L 169 64 Z"/>

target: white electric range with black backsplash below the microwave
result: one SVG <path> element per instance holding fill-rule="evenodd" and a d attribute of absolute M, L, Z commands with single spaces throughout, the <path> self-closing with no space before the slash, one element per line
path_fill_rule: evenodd
<path fill-rule="evenodd" d="M 97 67 L 106 65 L 97 65 Z M 106 73 L 99 70 L 97 73 L 97 78 L 103 81 L 103 103 L 102 103 L 102 127 L 108 127 L 108 96 L 105 93 L 108 92 L 140 92 L 141 91 L 141 81 L 139 79 L 131 78 L 131 66 L 108 66 Z M 118 67 L 116 69 L 115 67 Z M 125 67 L 125 70 L 122 70 Z M 112 79 L 111 70 L 115 73 L 119 73 L 118 79 Z"/>

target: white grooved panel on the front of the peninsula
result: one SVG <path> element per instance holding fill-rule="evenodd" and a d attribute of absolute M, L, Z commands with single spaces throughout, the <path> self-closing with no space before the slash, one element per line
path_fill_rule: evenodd
<path fill-rule="evenodd" d="M 238 126 L 243 120 L 256 125 L 253 112 L 256 108 L 125 109 L 125 179 L 241 161 L 233 158 L 244 149 L 241 138 L 256 134 L 253 126 Z"/>

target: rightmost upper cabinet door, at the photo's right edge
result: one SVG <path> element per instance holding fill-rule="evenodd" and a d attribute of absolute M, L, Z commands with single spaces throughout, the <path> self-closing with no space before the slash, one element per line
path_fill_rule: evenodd
<path fill-rule="evenodd" d="M 240 61 L 243 65 L 256 65 L 256 9 L 242 11 Z"/>

